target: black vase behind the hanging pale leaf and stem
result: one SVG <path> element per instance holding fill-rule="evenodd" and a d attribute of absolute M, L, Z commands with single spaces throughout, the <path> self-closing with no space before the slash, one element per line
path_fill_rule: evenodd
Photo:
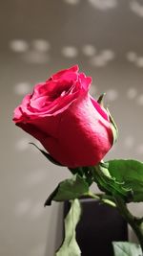
<path fill-rule="evenodd" d="M 127 222 L 118 211 L 98 201 L 81 199 L 82 216 L 76 228 L 76 240 L 82 256 L 113 256 L 113 241 L 128 241 Z M 64 216 L 70 202 L 64 203 Z"/>

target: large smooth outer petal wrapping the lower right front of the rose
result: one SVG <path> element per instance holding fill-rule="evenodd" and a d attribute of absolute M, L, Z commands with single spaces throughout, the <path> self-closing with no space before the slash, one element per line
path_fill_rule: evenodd
<path fill-rule="evenodd" d="M 58 140 L 49 137 L 42 144 L 65 166 L 92 166 L 111 149 L 112 128 L 88 97 L 63 113 Z"/>

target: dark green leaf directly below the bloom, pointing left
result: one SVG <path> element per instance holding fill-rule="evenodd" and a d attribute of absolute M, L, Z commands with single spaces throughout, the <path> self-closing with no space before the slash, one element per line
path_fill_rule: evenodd
<path fill-rule="evenodd" d="M 51 196 L 46 200 L 45 206 L 51 204 L 51 200 L 65 201 L 80 198 L 89 193 L 89 185 L 80 175 L 73 175 L 58 184 Z"/>

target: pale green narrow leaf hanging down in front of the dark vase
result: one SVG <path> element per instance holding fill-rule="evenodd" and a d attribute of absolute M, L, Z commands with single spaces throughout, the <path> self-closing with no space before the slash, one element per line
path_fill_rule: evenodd
<path fill-rule="evenodd" d="M 65 219 L 65 239 L 56 252 L 56 256 L 80 256 L 81 251 L 76 243 L 75 228 L 80 220 L 81 207 L 78 199 L 72 201 L 71 209 Z"/>

